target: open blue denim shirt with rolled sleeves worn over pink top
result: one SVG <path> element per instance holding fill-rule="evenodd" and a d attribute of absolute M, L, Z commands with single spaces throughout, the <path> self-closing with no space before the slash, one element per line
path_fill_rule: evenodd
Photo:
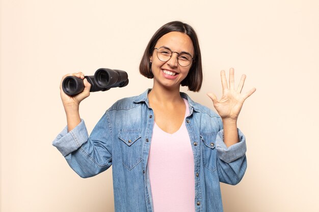
<path fill-rule="evenodd" d="M 117 101 L 90 136 L 81 120 L 70 132 L 65 127 L 52 143 L 81 177 L 94 176 L 113 165 L 116 212 L 154 212 L 146 168 L 154 126 L 148 92 Z M 180 95 L 188 100 L 190 109 L 185 125 L 194 155 L 195 210 L 223 211 L 220 182 L 235 185 L 242 179 L 247 167 L 245 136 L 238 130 L 240 142 L 227 148 L 221 118 L 188 95 Z"/>

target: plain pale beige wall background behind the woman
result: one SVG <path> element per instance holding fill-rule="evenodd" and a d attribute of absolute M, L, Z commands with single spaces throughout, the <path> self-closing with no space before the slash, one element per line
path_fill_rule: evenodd
<path fill-rule="evenodd" d="M 222 185 L 225 211 L 319 211 L 318 1 L 1 0 L 2 212 L 114 210 L 112 168 L 83 179 L 51 145 L 66 124 L 60 80 L 101 67 L 128 72 L 127 87 L 82 103 L 91 132 L 116 100 L 151 87 L 139 62 L 172 20 L 199 36 L 195 101 L 213 108 L 206 93 L 221 96 L 219 72 L 230 67 L 237 80 L 247 74 L 244 92 L 257 88 L 238 120 L 248 169 L 237 186 Z"/>

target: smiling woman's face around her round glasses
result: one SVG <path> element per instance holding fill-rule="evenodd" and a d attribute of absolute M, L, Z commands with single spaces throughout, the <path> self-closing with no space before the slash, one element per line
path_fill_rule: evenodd
<path fill-rule="evenodd" d="M 155 48 L 165 47 L 173 51 L 167 62 L 162 62 L 157 57 L 157 50 L 154 49 L 150 61 L 154 75 L 154 87 L 164 86 L 169 89 L 179 89 L 180 83 L 188 75 L 192 63 L 182 67 L 177 63 L 178 53 L 188 52 L 194 57 L 194 47 L 191 38 L 180 32 L 170 32 L 162 36 L 156 43 Z M 176 53 L 177 52 L 177 53 Z"/>

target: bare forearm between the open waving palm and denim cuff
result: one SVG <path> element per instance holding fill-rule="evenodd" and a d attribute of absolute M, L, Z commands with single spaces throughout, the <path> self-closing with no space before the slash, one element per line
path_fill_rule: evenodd
<path fill-rule="evenodd" d="M 224 143 L 227 147 L 240 141 L 237 131 L 237 120 L 222 119 L 224 125 Z"/>

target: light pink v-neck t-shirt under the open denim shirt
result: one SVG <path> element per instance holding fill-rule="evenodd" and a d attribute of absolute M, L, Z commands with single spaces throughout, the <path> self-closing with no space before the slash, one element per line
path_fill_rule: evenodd
<path fill-rule="evenodd" d="M 173 134 L 154 124 L 147 163 L 154 212 L 195 212 L 194 156 L 185 117 Z"/>

